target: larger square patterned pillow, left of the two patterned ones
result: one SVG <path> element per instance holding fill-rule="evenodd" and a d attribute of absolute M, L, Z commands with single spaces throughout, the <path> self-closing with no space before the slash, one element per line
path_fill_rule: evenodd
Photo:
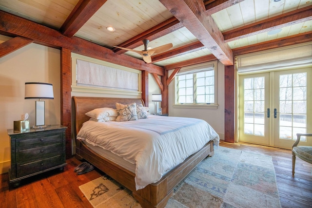
<path fill-rule="evenodd" d="M 129 105 L 116 103 L 116 109 L 118 113 L 116 121 L 137 120 L 137 104 L 136 103 L 131 103 Z"/>

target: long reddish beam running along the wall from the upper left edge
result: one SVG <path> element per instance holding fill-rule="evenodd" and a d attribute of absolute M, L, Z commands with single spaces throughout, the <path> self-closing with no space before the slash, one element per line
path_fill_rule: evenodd
<path fill-rule="evenodd" d="M 71 49 L 72 52 L 77 54 L 164 76 L 162 67 L 146 64 L 143 60 L 124 54 L 116 55 L 112 50 L 98 44 L 77 37 L 69 38 L 54 29 L 0 11 L 0 34 L 2 32 L 3 34 L 32 39 L 35 43 L 41 45 Z"/>

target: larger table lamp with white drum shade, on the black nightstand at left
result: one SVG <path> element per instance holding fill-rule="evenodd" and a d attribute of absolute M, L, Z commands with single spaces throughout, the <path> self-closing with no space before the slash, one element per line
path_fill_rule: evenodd
<path fill-rule="evenodd" d="M 36 126 L 33 128 L 45 128 L 44 100 L 42 99 L 54 99 L 52 84 L 41 82 L 26 82 L 25 99 L 38 99 L 36 101 Z"/>

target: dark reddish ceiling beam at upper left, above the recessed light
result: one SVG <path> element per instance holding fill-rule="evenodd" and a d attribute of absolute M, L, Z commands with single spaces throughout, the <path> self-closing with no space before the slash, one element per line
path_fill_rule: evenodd
<path fill-rule="evenodd" d="M 64 36 L 73 37 L 106 1 L 107 0 L 79 0 L 74 10 L 61 26 L 60 31 Z"/>

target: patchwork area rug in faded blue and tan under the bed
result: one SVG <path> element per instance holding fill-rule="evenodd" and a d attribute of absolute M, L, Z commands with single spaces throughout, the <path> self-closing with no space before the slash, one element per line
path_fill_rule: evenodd
<path fill-rule="evenodd" d="M 79 186 L 94 208 L 140 208 L 131 191 L 107 175 Z M 272 157 L 215 149 L 174 189 L 166 208 L 280 208 Z"/>

